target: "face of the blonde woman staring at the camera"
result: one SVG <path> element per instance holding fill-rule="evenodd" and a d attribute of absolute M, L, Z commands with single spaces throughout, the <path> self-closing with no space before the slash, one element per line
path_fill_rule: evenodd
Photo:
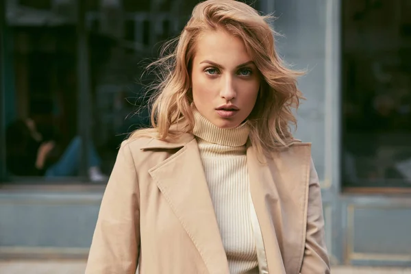
<path fill-rule="evenodd" d="M 210 31 L 197 40 L 191 84 L 200 114 L 217 127 L 234 128 L 256 104 L 260 75 L 240 38 Z"/>

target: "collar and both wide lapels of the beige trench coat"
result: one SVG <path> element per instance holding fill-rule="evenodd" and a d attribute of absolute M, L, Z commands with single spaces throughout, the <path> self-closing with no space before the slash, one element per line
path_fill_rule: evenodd
<path fill-rule="evenodd" d="M 309 148 L 307 144 L 296 145 Z M 149 174 L 197 247 L 208 271 L 229 273 L 227 257 L 195 137 L 192 134 L 182 134 L 178 138 L 167 140 L 152 138 L 141 149 L 179 149 L 150 169 Z M 288 214 L 295 214 L 295 218 L 299 220 L 304 219 L 303 213 L 306 205 L 302 198 L 307 193 L 306 178 L 308 177 L 307 166 L 309 166 L 310 150 L 298 150 L 297 153 L 295 149 L 284 149 L 284 151 L 273 153 L 273 157 L 265 158 L 266 162 L 262 164 L 257 157 L 256 149 L 247 144 L 251 199 L 260 224 L 266 266 L 270 273 L 288 273 L 289 271 L 298 273 L 298 261 L 303 255 L 302 241 L 301 246 L 297 248 L 301 249 L 301 254 L 291 256 L 284 254 L 286 239 L 282 236 L 286 232 L 282 231 L 282 223 L 288 216 L 284 215 L 282 199 L 284 195 L 290 193 L 301 197 L 296 200 L 298 204 L 295 205 L 299 211 L 288 212 Z M 301 225 L 298 225 L 299 227 L 293 229 L 298 232 L 297 234 L 302 235 L 304 229 L 302 221 Z M 284 260 L 293 260 L 297 263 L 288 264 L 292 265 L 292 269 L 288 269 L 284 266 Z"/>

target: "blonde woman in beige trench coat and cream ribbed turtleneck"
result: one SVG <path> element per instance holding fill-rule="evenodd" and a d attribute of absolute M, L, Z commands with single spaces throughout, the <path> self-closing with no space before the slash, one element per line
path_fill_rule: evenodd
<path fill-rule="evenodd" d="M 301 95 L 266 18 L 199 3 L 165 64 L 153 129 L 123 142 L 87 274 L 329 273 Z"/>

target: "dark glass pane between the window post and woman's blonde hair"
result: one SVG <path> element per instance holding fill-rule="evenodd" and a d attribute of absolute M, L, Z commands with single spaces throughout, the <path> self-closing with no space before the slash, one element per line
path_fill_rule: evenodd
<path fill-rule="evenodd" d="M 258 6 L 259 1 L 253 2 Z M 88 13 L 92 77 L 93 140 L 110 173 L 127 134 L 150 126 L 148 96 L 141 79 L 149 60 L 158 57 L 162 43 L 182 31 L 197 0 L 124 0 L 120 6 Z M 121 9 L 123 9 L 121 11 Z"/>

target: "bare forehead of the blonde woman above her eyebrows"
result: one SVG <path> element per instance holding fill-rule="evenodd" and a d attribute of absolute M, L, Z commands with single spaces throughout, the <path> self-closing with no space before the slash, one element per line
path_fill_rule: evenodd
<path fill-rule="evenodd" d="M 242 63 L 251 60 L 245 43 L 224 30 L 206 31 L 197 40 L 195 59 Z"/>

